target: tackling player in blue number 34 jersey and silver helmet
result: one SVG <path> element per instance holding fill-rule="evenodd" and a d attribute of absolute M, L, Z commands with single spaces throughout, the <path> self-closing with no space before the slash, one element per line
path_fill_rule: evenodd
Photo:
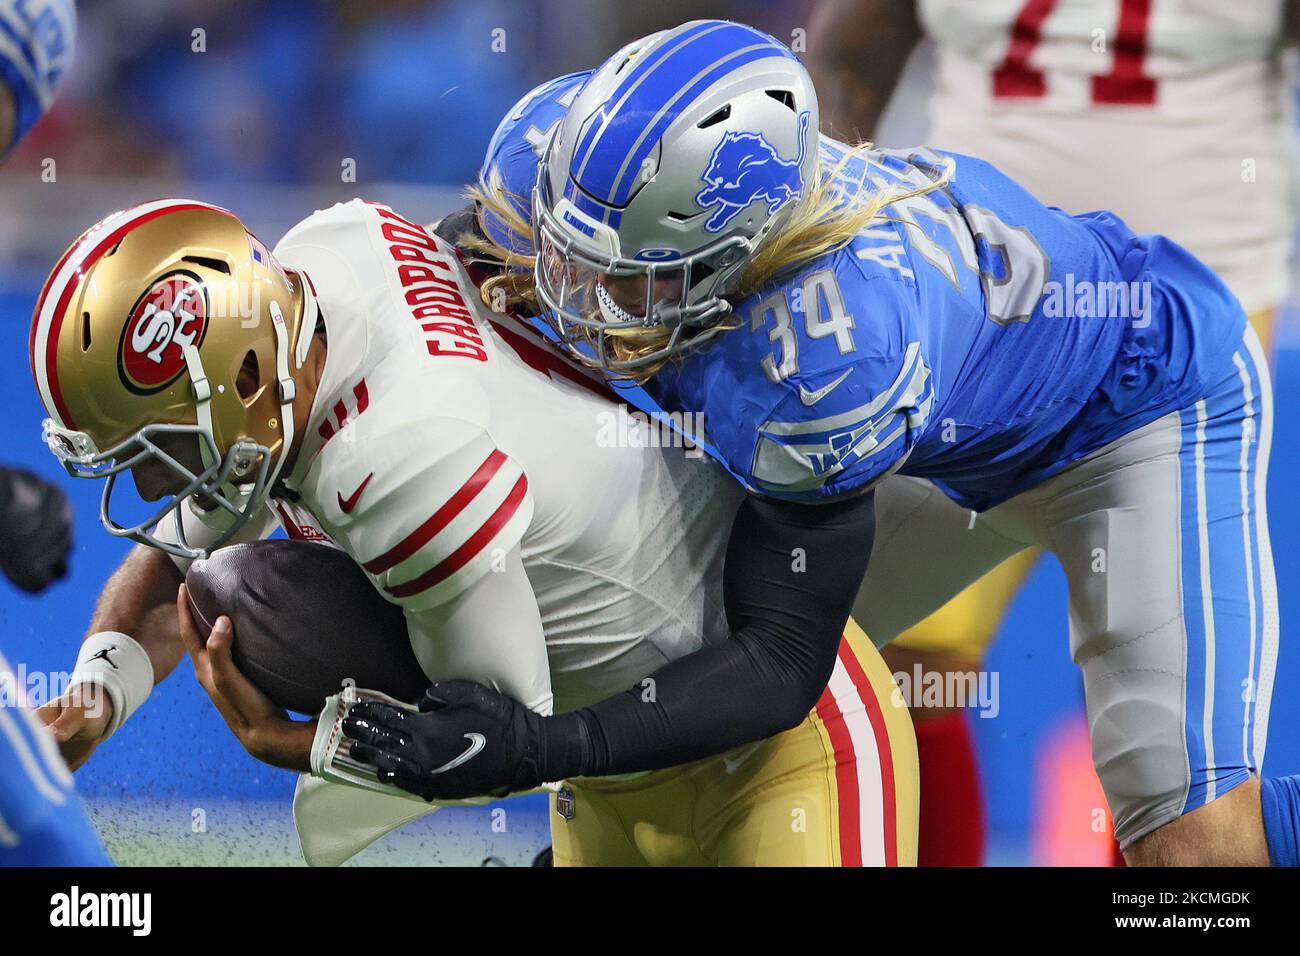
<path fill-rule="evenodd" d="M 437 797 L 719 753 L 807 711 L 850 610 L 888 643 L 1039 545 L 1069 579 L 1128 861 L 1297 861 L 1297 780 L 1258 775 L 1271 385 L 1206 267 L 976 159 L 819 137 L 793 53 L 723 21 L 541 87 L 478 198 L 467 245 L 507 267 L 536 254 L 485 300 L 532 310 L 647 410 L 702 414 L 751 492 L 727 553 L 732 640 L 649 697 L 560 717 L 439 684 L 426 713 L 359 714 L 354 754 Z M 485 745 L 464 757 L 469 735 Z"/>

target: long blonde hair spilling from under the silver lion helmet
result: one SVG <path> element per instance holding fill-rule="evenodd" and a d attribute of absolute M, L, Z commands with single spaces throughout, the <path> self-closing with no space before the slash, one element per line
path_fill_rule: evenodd
<path fill-rule="evenodd" d="M 842 248 L 849 245 L 854 235 L 878 219 L 902 221 L 883 216 L 883 209 L 890 203 L 941 189 L 952 179 L 954 164 L 948 160 L 944 173 L 924 186 L 916 189 L 902 186 L 868 189 L 867 172 L 871 166 L 866 153 L 871 148 L 871 143 L 849 147 L 835 161 L 835 165 L 826 169 L 820 159 L 818 160 L 812 176 L 814 185 L 809 190 L 809 195 L 790 217 L 759 246 L 758 252 L 741 273 L 740 281 L 727 293 L 727 299 L 734 302 L 753 295 L 774 276 Z M 861 165 L 861 174 L 849 177 L 846 173 L 854 161 Z M 465 195 L 478 204 L 478 224 L 484 237 L 488 237 L 486 217 L 491 215 L 512 233 L 516 233 L 529 250 L 532 248 L 532 226 L 520 215 L 516 206 L 521 198 L 504 189 L 499 170 L 493 169 L 489 179 L 480 179 L 465 191 Z M 464 246 L 491 256 L 507 267 L 502 274 L 490 277 L 480 287 L 484 303 L 497 311 L 519 306 L 533 312 L 538 311 L 532 251 L 507 250 L 493 242 L 491 238 L 481 237 L 465 238 Z M 738 325 L 740 319 L 731 316 L 724 321 L 723 329 Z M 668 342 L 671 332 L 663 328 L 606 330 L 578 328 L 575 334 L 589 338 L 593 345 L 597 337 L 604 336 L 610 354 L 620 362 L 627 362 L 662 349 Z M 625 373 L 623 377 L 638 384 L 645 382 L 670 360 L 671 358 L 664 358 Z"/>

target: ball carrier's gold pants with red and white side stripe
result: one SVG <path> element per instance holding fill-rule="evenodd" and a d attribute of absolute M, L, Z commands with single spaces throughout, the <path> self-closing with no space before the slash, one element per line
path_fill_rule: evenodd
<path fill-rule="evenodd" d="M 551 797 L 556 866 L 913 866 L 911 719 L 850 622 L 831 683 L 797 727 L 720 757 Z"/>

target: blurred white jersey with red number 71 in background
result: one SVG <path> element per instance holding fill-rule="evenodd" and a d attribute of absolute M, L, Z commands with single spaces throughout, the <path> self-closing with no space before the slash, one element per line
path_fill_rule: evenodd
<path fill-rule="evenodd" d="M 1066 212 L 1112 209 L 1214 268 L 1247 311 L 1287 286 L 1282 0 L 919 0 L 933 146 Z"/>

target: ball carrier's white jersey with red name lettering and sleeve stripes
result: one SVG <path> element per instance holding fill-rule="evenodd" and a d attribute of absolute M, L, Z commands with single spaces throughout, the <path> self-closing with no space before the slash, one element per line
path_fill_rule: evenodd
<path fill-rule="evenodd" d="M 387 207 L 317 212 L 274 254 L 308 277 L 329 343 L 286 479 L 300 497 L 270 502 L 291 537 L 344 549 L 412 611 L 517 545 L 562 710 L 725 636 L 722 554 L 741 492 L 722 470 L 634 446 L 647 431 L 610 442 L 603 386 L 504 325 L 454 248 Z"/>

